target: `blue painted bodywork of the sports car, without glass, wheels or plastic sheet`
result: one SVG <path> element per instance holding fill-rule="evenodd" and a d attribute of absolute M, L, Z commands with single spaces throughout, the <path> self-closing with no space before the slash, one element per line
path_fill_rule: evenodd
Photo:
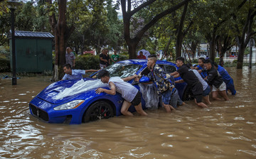
<path fill-rule="evenodd" d="M 132 64 L 132 65 L 142 65 L 142 67 L 137 72 L 139 75 L 142 70 L 146 67 L 147 60 L 124 60 L 119 63 Z M 166 61 L 157 61 L 159 65 L 176 65 L 172 62 Z M 177 68 L 177 67 L 176 67 Z M 177 68 L 178 69 L 178 68 Z M 93 76 L 93 75 L 92 75 Z M 92 77 L 91 76 L 91 77 Z M 87 80 L 95 80 L 92 78 L 83 78 L 84 81 Z M 176 78 L 176 80 L 181 79 L 180 77 Z M 62 80 L 59 82 L 55 82 L 50 84 L 48 87 L 43 89 L 36 97 L 34 97 L 29 103 L 30 111 L 33 116 L 38 117 L 39 119 L 43 119 L 48 123 L 68 123 L 68 124 L 81 124 L 82 117 L 84 116 L 87 109 L 95 102 L 105 101 L 111 104 L 114 115 L 121 115 L 121 107 L 122 99 L 121 94 L 117 93 L 115 95 L 110 95 L 106 93 L 95 94 L 95 89 L 89 89 L 85 92 L 81 92 L 79 94 L 72 95 L 70 97 L 65 97 L 63 99 L 53 99 L 53 97 L 62 92 L 65 88 L 72 87 L 73 84 L 78 82 L 78 79 L 72 80 Z M 129 81 L 130 83 L 134 82 L 134 80 Z M 134 84 L 134 87 L 139 89 L 138 84 Z M 103 87 L 105 89 L 109 89 L 108 87 Z M 176 84 L 176 89 L 178 89 L 178 93 L 182 98 L 182 94 L 186 89 L 186 83 Z M 61 104 L 65 104 L 71 102 L 73 100 L 84 100 L 84 102 L 75 109 L 66 109 L 66 110 L 54 110 L 56 106 L 60 106 Z M 145 101 L 142 98 L 142 107 L 145 109 Z M 129 108 L 129 111 L 135 111 L 134 106 Z"/>

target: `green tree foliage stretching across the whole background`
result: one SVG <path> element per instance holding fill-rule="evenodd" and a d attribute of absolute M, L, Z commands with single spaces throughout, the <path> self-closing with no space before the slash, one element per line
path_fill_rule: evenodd
<path fill-rule="evenodd" d="M 63 3 L 64 12 L 60 9 Z M 209 43 L 212 60 L 216 52 L 221 60 L 237 45 L 241 68 L 247 43 L 256 34 L 256 0 L 119 0 L 115 4 L 113 0 L 24 0 L 21 4 L 15 11 L 15 29 L 51 32 L 55 48 L 59 47 L 56 37 L 62 35 L 59 64 L 65 62 L 67 46 L 76 54 L 128 47 L 129 58 L 135 58 L 140 49 L 164 50 L 176 57 L 184 45 L 195 55 L 200 43 Z M 117 18 L 120 5 L 122 20 Z M 0 45 L 8 44 L 10 14 L 6 0 L 0 1 Z"/>

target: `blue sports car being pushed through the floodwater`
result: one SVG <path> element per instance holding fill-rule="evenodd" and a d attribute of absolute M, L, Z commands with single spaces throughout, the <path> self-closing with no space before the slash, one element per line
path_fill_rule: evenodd
<path fill-rule="evenodd" d="M 134 74 L 139 75 L 147 70 L 146 62 L 146 60 L 124 60 L 105 69 L 110 72 L 112 77 L 124 78 Z M 176 65 L 172 62 L 159 60 L 156 64 L 167 73 L 177 70 Z M 176 80 L 178 79 L 180 77 L 176 78 Z M 149 82 L 149 78 L 142 77 L 140 83 L 143 82 Z M 129 83 L 139 89 L 138 82 L 135 82 L 134 79 Z M 95 89 L 98 87 L 109 89 L 107 84 L 103 84 L 100 79 L 97 79 L 97 73 L 91 75 L 90 78 L 54 82 L 31 100 L 29 109 L 33 116 L 48 123 L 81 124 L 121 115 L 120 109 L 124 101 L 121 94 L 96 94 Z M 186 83 L 176 84 L 176 89 L 178 89 L 181 99 L 186 100 L 189 97 Z M 142 107 L 146 108 L 143 98 Z M 135 111 L 134 106 L 131 106 L 129 111 Z"/>

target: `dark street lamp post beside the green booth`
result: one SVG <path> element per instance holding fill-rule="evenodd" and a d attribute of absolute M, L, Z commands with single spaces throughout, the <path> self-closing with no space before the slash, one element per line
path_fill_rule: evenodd
<path fill-rule="evenodd" d="M 15 52 L 15 34 L 14 34 L 14 11 L 16 9 L 16 6 L 19 5 L 18 2 L 12 0 L 7 1 L 8 8 L 11 9 L 11 53 L 12 53 L 12 84 L 17 84 L 17 78 L 16 78 L 16 52 Z"/>

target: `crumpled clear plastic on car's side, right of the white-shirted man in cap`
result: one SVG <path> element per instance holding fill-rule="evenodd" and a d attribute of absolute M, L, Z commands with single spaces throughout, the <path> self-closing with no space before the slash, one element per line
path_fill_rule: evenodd
<path fill-rule="evenodd" d="M 146 102 L 147 109 L 158 109 L 159 96 L 156 92 L 156 85 L 152 84 L 139 84 L 140 92 Z"/>

